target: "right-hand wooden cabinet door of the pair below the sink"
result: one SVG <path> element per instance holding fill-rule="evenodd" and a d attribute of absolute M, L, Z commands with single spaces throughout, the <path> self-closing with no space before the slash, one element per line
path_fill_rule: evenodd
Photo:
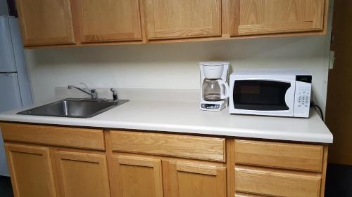
<path fill-rule="evenodd" d="M 105 155 L 56 151 L 55 163 L 62 197 L 110 196 Z"/>

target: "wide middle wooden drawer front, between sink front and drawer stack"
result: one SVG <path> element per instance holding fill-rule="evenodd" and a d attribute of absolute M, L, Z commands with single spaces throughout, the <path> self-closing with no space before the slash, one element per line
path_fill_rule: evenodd
<path fill-rule="evenodd" d="M 225 139 L 158 133 L 111 131 L 113 151 L 225 162 Z"/>

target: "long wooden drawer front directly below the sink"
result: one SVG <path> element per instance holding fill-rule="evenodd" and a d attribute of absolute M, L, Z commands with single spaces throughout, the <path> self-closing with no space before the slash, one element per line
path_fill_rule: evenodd
<path fill-rule="evenodd" d="M 105 150 L 103 130 L 2 123 L 4 140 Z"/>

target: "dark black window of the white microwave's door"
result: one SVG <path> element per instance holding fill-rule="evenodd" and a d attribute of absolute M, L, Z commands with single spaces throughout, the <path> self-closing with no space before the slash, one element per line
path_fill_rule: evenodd
<path fill-rule="evenodd" d="M 285 102 L 291 83 L 264 80 L 234 81 L 234 108 L 258 111 L 288 110 Z"/>

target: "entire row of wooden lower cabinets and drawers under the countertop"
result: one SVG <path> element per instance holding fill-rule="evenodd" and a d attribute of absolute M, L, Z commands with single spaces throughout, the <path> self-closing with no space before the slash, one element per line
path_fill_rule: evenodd
<path fill-rule="evenodd" d="M 325 191 L 323 144 L 9 123 L 1 130 L 15 197 L 323 197 Z"/>

